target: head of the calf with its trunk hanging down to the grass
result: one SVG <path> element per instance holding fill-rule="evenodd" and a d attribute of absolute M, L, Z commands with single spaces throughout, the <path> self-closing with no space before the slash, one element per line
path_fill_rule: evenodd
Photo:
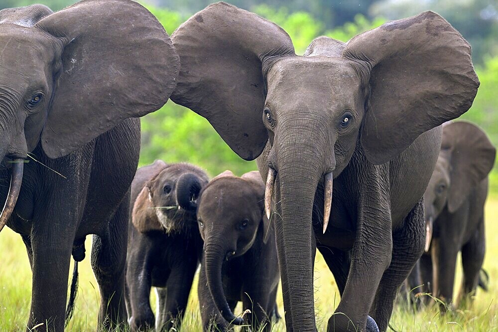
<path fill-rule="evenodd" d="M 227 303 L 222 264 L 245 254 L 258 230 L 266 243 L 269 222 L 264 215 L 264 183 L 257 171 L 235 177 L 225 171 L 203 189 L 197 220 L 204 239 L 204 268 L 213 300 L 227 322 L 243 324 Z"/>

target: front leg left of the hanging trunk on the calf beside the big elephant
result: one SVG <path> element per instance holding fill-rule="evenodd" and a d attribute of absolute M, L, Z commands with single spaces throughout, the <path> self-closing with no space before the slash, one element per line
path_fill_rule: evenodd
<path fill-rule="evenodd" d="M 202 327 L 204 332 L 223 332 L 228 331 L 228 323 L 221 317 L 221 313 L 218 311 L 213 297 L 209 291 L 208 279 L 206 277 L 206 270 L 204 265 L 201 265 L 201 271 L 199 273 L 199 284 L 197 286 L 197 294 L 199 296 L 199 307 L 201 310 Z M 229 302 L 230 309 L 233 310 L 232 306 L 235 308 L 237 301 Z"/>

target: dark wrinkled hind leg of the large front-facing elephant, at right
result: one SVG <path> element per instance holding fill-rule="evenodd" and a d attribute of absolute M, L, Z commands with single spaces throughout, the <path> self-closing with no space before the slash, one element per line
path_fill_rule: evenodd
<path fill-rule="evenodd" d="M 423 200 L 405 218 L 392 236 L 392 258 L 377 288 L 370 311 L 380 331 L 387 331 L 396 292 L 420 258 L 425 244 Z"/>

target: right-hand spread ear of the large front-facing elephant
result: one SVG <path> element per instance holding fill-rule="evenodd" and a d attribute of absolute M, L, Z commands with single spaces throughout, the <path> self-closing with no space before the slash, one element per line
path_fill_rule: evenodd
<path fill-rule="evenodd" d="M 348 42 L 371 87 L 361 143 L 373 164 L 397 156 L 421 133 L 456 118 L 479 87 L 471 48 L 443 17 L 426 11 Z"/>

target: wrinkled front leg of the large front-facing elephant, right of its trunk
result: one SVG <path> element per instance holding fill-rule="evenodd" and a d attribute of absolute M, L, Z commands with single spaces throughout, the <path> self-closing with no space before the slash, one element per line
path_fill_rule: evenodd
<path fill-rule="evenodd" d="M 349 275 L 341 302 L 328 321 L 330 332 L 378 331 L 368 315 L 382 274 L 391 261 L 391 218 L 387 194 L 380 188 L 368 189 L 360 194 Z M 368 197 L 362 197 L 364 194 Z"/>

